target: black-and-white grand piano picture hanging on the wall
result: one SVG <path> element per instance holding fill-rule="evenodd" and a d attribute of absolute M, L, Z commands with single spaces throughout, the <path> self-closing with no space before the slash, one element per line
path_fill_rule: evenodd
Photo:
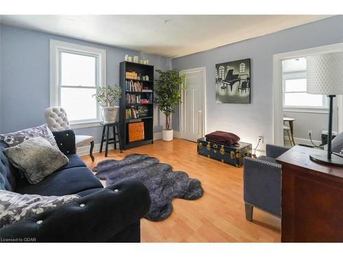
<path fill-rule="evenodd" d="M 215 64 L 215 102 L 250 103 L 250 59 Z"/>

